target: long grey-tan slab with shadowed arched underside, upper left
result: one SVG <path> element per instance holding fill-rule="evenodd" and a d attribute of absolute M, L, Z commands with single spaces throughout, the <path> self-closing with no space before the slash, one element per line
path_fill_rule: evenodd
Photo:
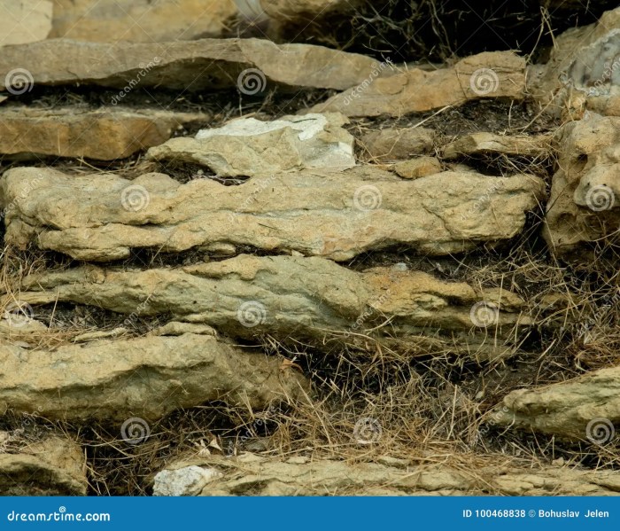
<path fill-rule="evenodd" d="M 371 58 L 345 51 L 260 39 L 144 44 L 49 39 L 3 48 L 0 90 L 15 65 L 27 69 L 35 85 L 80 83 L 122 89 L 139 82 L 142 87 L 191 91 L 237 86 L 245 94 L 257 94 L 271 81 L 345 90 L 362 82 L 374 64 Z"/>

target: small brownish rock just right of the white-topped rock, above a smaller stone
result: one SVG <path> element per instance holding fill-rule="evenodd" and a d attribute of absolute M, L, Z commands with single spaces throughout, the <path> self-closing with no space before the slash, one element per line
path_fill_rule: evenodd
<path fill-rule="evenodd" d="M 424 128 L 388 128 L 370 131 L 360 141 L 371 160 L 405 160 L 413 155 L 430 153 L 435 131 Z"/>

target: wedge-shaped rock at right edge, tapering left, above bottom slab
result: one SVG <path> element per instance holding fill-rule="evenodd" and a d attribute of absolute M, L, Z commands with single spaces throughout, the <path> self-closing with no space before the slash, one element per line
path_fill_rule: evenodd
<path fill-rule="evenodd" d="M 614 424 L 620 422 L 620 367 L 546 387 L 517 389 L 488 420 L 563 439 L 608 443 L 616 438 Z"/>

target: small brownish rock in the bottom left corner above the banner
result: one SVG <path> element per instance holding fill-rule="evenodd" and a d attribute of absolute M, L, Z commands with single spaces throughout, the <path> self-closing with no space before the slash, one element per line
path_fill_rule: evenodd
<path fill-rule="evenodd" d="M 74 441 L 55 435 L 19 439 L 19 433 L 0 432 L 1 496 L 86 496 L 84 454 Z"/>

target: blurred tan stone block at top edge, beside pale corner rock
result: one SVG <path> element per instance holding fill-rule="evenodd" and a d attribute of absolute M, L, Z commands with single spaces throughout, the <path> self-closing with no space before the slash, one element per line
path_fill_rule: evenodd
<path fill-rule="evenodd" d="M 233 0 L 152 2 L 55 0 L 50 38 L 102 43 L 167 43 L 221 37 L 236 14 Z"/>

